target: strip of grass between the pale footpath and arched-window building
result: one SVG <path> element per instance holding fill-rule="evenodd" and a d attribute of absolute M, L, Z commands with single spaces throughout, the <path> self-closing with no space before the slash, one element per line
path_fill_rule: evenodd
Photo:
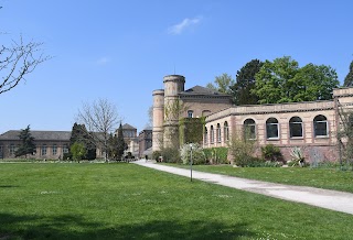
<path fill-rule="evenodd" d="M 188 165 L 167 164 L 190 168 Z M 193 165 L 193 170 L 248 179 L 298 186 L 311 186 L 353 193 L 353 172 L 310 167 L 233 167 L 232 165 Z"/>

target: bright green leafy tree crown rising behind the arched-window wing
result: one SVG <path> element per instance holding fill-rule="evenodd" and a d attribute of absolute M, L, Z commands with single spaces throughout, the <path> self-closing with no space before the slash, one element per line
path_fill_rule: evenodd
<path fill-rule="evenodd" d="M 289 56 L 266 61 L 255 75 L 253 94 L 259 103 L 329 100 L 339 86 L 334 69 L 325 65 L 308 64 L 299 68 Z"/>

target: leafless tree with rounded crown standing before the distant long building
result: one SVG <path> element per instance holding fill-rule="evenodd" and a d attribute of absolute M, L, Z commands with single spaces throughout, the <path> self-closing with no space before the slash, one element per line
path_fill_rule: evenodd
<path fill-rule="evenodd" d="M 103 148 L 105 161 L 107 161 L 109 134 L 121 121 L 116 106 L 106 99 L 84 103 L 78 110 L 77 121 L 86 126 L 94 143 Z"/>

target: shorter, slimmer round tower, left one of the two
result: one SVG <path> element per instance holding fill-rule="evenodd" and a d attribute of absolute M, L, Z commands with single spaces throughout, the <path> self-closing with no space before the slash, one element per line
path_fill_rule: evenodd
<path fill-rule="evenodd" d="M 152 151 L 160 151 L 163 145 L 164 90 L 153 90 Z"/>

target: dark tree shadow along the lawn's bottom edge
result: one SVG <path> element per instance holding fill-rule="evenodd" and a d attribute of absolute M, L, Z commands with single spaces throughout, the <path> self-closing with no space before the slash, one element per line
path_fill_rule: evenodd
<path fill-rule="evenodd" d="M 255 237 L 247 223 L 163 221 L 105 226 L 77 216 L 55 218 L 0 214 L 0 239 L 236 239 Z"/>

